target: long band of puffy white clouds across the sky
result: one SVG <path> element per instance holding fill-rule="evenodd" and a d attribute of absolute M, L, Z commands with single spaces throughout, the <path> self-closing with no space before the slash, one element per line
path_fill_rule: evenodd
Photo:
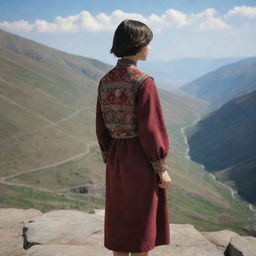
<path fill-rule="evenodd" d="M 89 11 L 81 11 L 77 15 L 67 17 L 57 16 L 53 22 L 46 20 L 35 20 L 29 23 L 25 20 L 0 22 L 0 28 L 7 28 L 16 31 L 40 32 L 40 33 L 78 33 L 80 31 L 104 32 L 113 31 L 124 19 L 134 19 L 148 24 L 154 32 L 161 33 L 166 29 L 189 28 L 192 31 L 221 31 L 228 30 L 237 25 L 233 22 L 233 16 L 256 17 L 256 7 L 236 6 L 223 16 L 218 16 L 214 8 L 207 8 L 202 12 L 186 14 L 184 12 L 168 9 L 162 15 L 150 14 L 144 17 L 139 13 L 125 13 L 122 10 L 115 10 L 110 15 L 101 12 L 92 16 Z M 232 24 L 232 22 L 234 24 Z"/>

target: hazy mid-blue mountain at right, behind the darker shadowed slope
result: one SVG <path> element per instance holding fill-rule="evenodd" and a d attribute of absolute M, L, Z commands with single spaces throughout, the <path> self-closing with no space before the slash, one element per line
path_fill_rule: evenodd
<path fill-rule="evenodd" d="M 225 102 L 256 89 L 256 57 L 224 65 L 179 89 L 208 101 L 209 110 L 216 110 Z"/>

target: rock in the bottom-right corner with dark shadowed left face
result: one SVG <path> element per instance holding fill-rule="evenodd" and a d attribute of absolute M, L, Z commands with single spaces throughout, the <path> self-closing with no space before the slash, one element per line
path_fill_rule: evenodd
<path fill-rule="evenodd" d="M 235 236 L 224 252 L 225 256 L 256 256 L 256 237 Z"/>

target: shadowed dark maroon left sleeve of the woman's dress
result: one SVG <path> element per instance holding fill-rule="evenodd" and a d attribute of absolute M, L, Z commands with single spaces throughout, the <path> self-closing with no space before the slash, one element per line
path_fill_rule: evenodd
<path fill-rule="evenodd" d="M 108 156 L 108 147 L 111 140 L 111 136 L 109 134 L 109 131 L 103 119 L 101 105 L 100 105 L 99 90 L 98 90 L 97 107 L 96 107 L 96 135 L 98 138 L 98 143 L 100 146 L 103 162 L 106 163 L 107 156 Z"/>

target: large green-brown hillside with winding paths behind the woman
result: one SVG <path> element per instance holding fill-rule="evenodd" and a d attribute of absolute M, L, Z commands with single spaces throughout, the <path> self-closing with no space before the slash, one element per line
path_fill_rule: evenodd
<path fill-rule="evenodd" d="M 97 85 L 113 66 L 0 31 L 0 207 L 104 208 Z M 158 85 L 158 84 L 157 84 Z M 254 212 L 186 157 L 183 129 L 206 103 L 159 88 L 170 135 L 173 223 L 253 234 Z"/>

